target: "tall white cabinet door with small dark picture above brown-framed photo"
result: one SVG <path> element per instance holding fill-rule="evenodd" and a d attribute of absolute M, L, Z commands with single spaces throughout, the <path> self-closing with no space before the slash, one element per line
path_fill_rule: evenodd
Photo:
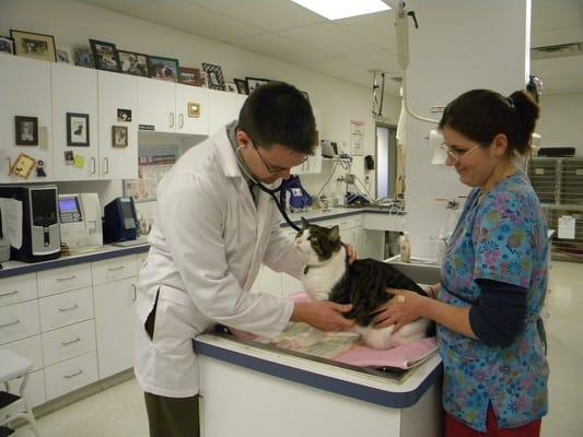
<path fill-rule="evenodd" d="M 97 90 L 100 176 L 102 179 L 137 179 L 138 78 L 100 71 Z M 131 120 L 118 119 L 118 109 L 130 110 Z M 126 128 L 127 132 L 124 134 L 124 129 L 114 132 L 114 127 Z"/>

